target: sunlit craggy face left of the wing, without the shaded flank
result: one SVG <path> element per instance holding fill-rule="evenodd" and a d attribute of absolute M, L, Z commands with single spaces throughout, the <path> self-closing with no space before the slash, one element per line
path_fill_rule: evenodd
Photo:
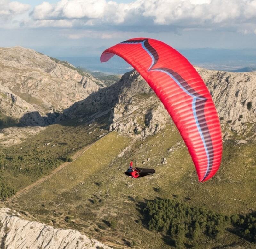
<path fill-rule="evenodd" d="M 111 111 L 110 131 L 146 137 L 164 128 L 170 117 L 138 72 L 127 73 L 121 80 L 124 85 Z"/>

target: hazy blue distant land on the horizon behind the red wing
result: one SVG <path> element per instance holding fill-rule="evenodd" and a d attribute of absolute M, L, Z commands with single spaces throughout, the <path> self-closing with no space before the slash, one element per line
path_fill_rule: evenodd
<path fill-rule="evenodd" d="M 178 49 L 193 65 L 231 72 L 250 72 L 251 68 L 256 68 L 256 49 Z M 99 71 L 110 74 L 124 74 L 132 67 L 122 58 L 114 56 L 107 63 L 100 62 L 98 56 L 82 57 L 57 57 L 62 61 L 68 61 L 76 67 L 86 68 L 91 71 Z M 250 68 L 250 69 L 247 69 Z M 245 71 L 240 71 L 245 68 Z M 239 70 L 239 71 L 236 71 Z"/>

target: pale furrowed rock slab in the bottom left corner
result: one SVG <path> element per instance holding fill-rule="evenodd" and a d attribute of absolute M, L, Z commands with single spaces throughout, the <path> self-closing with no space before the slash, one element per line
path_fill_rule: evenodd
<path fill-rule="evenodd" d="M 45 249 L 110 249 L 72 229 L 57 229 L 42 223 L 22 219 L 19 213 L 8 208 L 0 209 L 1 248 Z M 26 238 L 26 239 L 24 239 Z"/>

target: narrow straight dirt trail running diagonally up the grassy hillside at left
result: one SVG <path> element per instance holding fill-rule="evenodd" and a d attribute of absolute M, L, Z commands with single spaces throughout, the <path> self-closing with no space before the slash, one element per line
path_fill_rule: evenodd
<path fill-rule="evenodd" d="M 97 143 L 98 141 L 100 141 L 102 138 L 104 138 L 106 135 L 108 135 L 109 133 L 105 134 L 104 136 L 102 136 L 100 139 L 98 139 L 97 141 L 85 146 L 83 149 L 77 151 L 73 156 L 72 159 L 74 162 L 77 158 L 79 158 L 82 154 L 84 154 L 84 152 L 86 150 L 88 150 L 89 148 L 91 148 L 95 143 Z M 53 170 L 49 175 L 38 179 L 36 182 L 28 185 L 27 187 L 19 190 L 14 196 L 7 198 L 7 200 L 5 201 L 0 201 L 0 204 L 6 203 L 6 202 L 10 202 L 13 199 L 16 199 L 17 197 L 19 197 L 20 195 L 28 192 L 30 189 L 34 188 L 35 186 L 38 186 L 39 184 L 45 182 L 46 180 L 48 180 L 49 178 L 51 178 L 52 176 L 54 176 L 55 174 L 57 174 L 60 170 L 64 169 L 66 166 L 68 166 L 70 163 L 72 162 L 64 162 L 62 163 L 59 167 L 57 167 L 55 170 Z"/>

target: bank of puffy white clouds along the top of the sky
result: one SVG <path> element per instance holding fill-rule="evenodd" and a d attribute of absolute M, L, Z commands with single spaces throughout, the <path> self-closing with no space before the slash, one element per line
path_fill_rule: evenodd
<path fill-rule="evenodd" d="M 256 0 L 60 0 L 31 6 L 0 0 L 1 27 L 54 27 L 105 32 L 223 30 L 254 34 Z M 26 15 L 24 15 L 26 14 Z M 112 32 L 112 34 L 107 34 Z M 77 37 L 75 35 L 74 37 Z"/>

